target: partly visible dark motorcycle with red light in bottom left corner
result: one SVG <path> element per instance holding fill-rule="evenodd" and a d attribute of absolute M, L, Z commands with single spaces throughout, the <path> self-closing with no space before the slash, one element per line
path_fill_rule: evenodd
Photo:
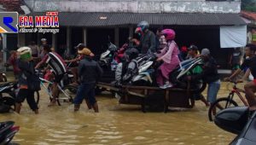
<path fill-rule="evenodd" d="M 19 130 L 20 126 L 15 126 L 14 121 L 0 122 L 0 144 L 9 144 Z"/>

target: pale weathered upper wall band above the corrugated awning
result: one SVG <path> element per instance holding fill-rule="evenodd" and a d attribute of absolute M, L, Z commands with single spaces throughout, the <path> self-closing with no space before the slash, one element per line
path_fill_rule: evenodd
<path fill-rule="evenodd" d="M 241 2 L 204 0 L 24 0 L 36 12 L 240 13 Z"/>

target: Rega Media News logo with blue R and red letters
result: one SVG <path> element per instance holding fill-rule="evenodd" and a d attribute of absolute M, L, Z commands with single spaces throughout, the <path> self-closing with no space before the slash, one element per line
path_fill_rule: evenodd
<path fill-rule="evenodd" d="M 44 15 L 18 15 L 17 12 L 0 12 L 0 33 L 59 32 L 58 12 Z"/>

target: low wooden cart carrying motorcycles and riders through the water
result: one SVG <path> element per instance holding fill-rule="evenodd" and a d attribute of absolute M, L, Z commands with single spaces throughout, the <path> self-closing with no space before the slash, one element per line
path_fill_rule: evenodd
<path fill-rule="evenodd" d="M 168 107 L 192 108 L 194 106 L 192 102 L 195 102 L 193 94 L 201 93 L 206 88 L 206 84 L 203 84 L 200 90 L 191 90 L 189 89 L 190 85 L 187 89 L 169 88 L 165 90 L 159 87 L 131 85 L 118 88 L 113 84 L 106 83 L 98 83 L 97 86 L 119 94 L 119 103 L 121 104 L 141 105 L 144 113 L 147 105 L 161 106 L 165 113 L 168 111 Z"/>

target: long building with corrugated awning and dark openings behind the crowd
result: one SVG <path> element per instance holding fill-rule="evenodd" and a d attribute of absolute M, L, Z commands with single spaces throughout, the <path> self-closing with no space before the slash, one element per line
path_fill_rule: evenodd
<path fill-rule="evenodd" d="M 154 32 L 158 27 L 174 29 L 180 47 L 195 44 L 200 49 L 211 49 L 222 67 L 229 49 L 221 48 L 246 44 L 246 23 L 239 15 L 240 0 L 24 0 L 24 3 L 31 11 L 29 15 L 58 11 L 61 27 L 56 34 L 19 33 L 19 44 L 30 41 L 39 44 L 40 38 L 47 38 L 60 53 L 84 43 L 99 55 L 106 49 L 108 36 L 120 46 L 133 36 L 141 20 L 147 20 Z"/>

